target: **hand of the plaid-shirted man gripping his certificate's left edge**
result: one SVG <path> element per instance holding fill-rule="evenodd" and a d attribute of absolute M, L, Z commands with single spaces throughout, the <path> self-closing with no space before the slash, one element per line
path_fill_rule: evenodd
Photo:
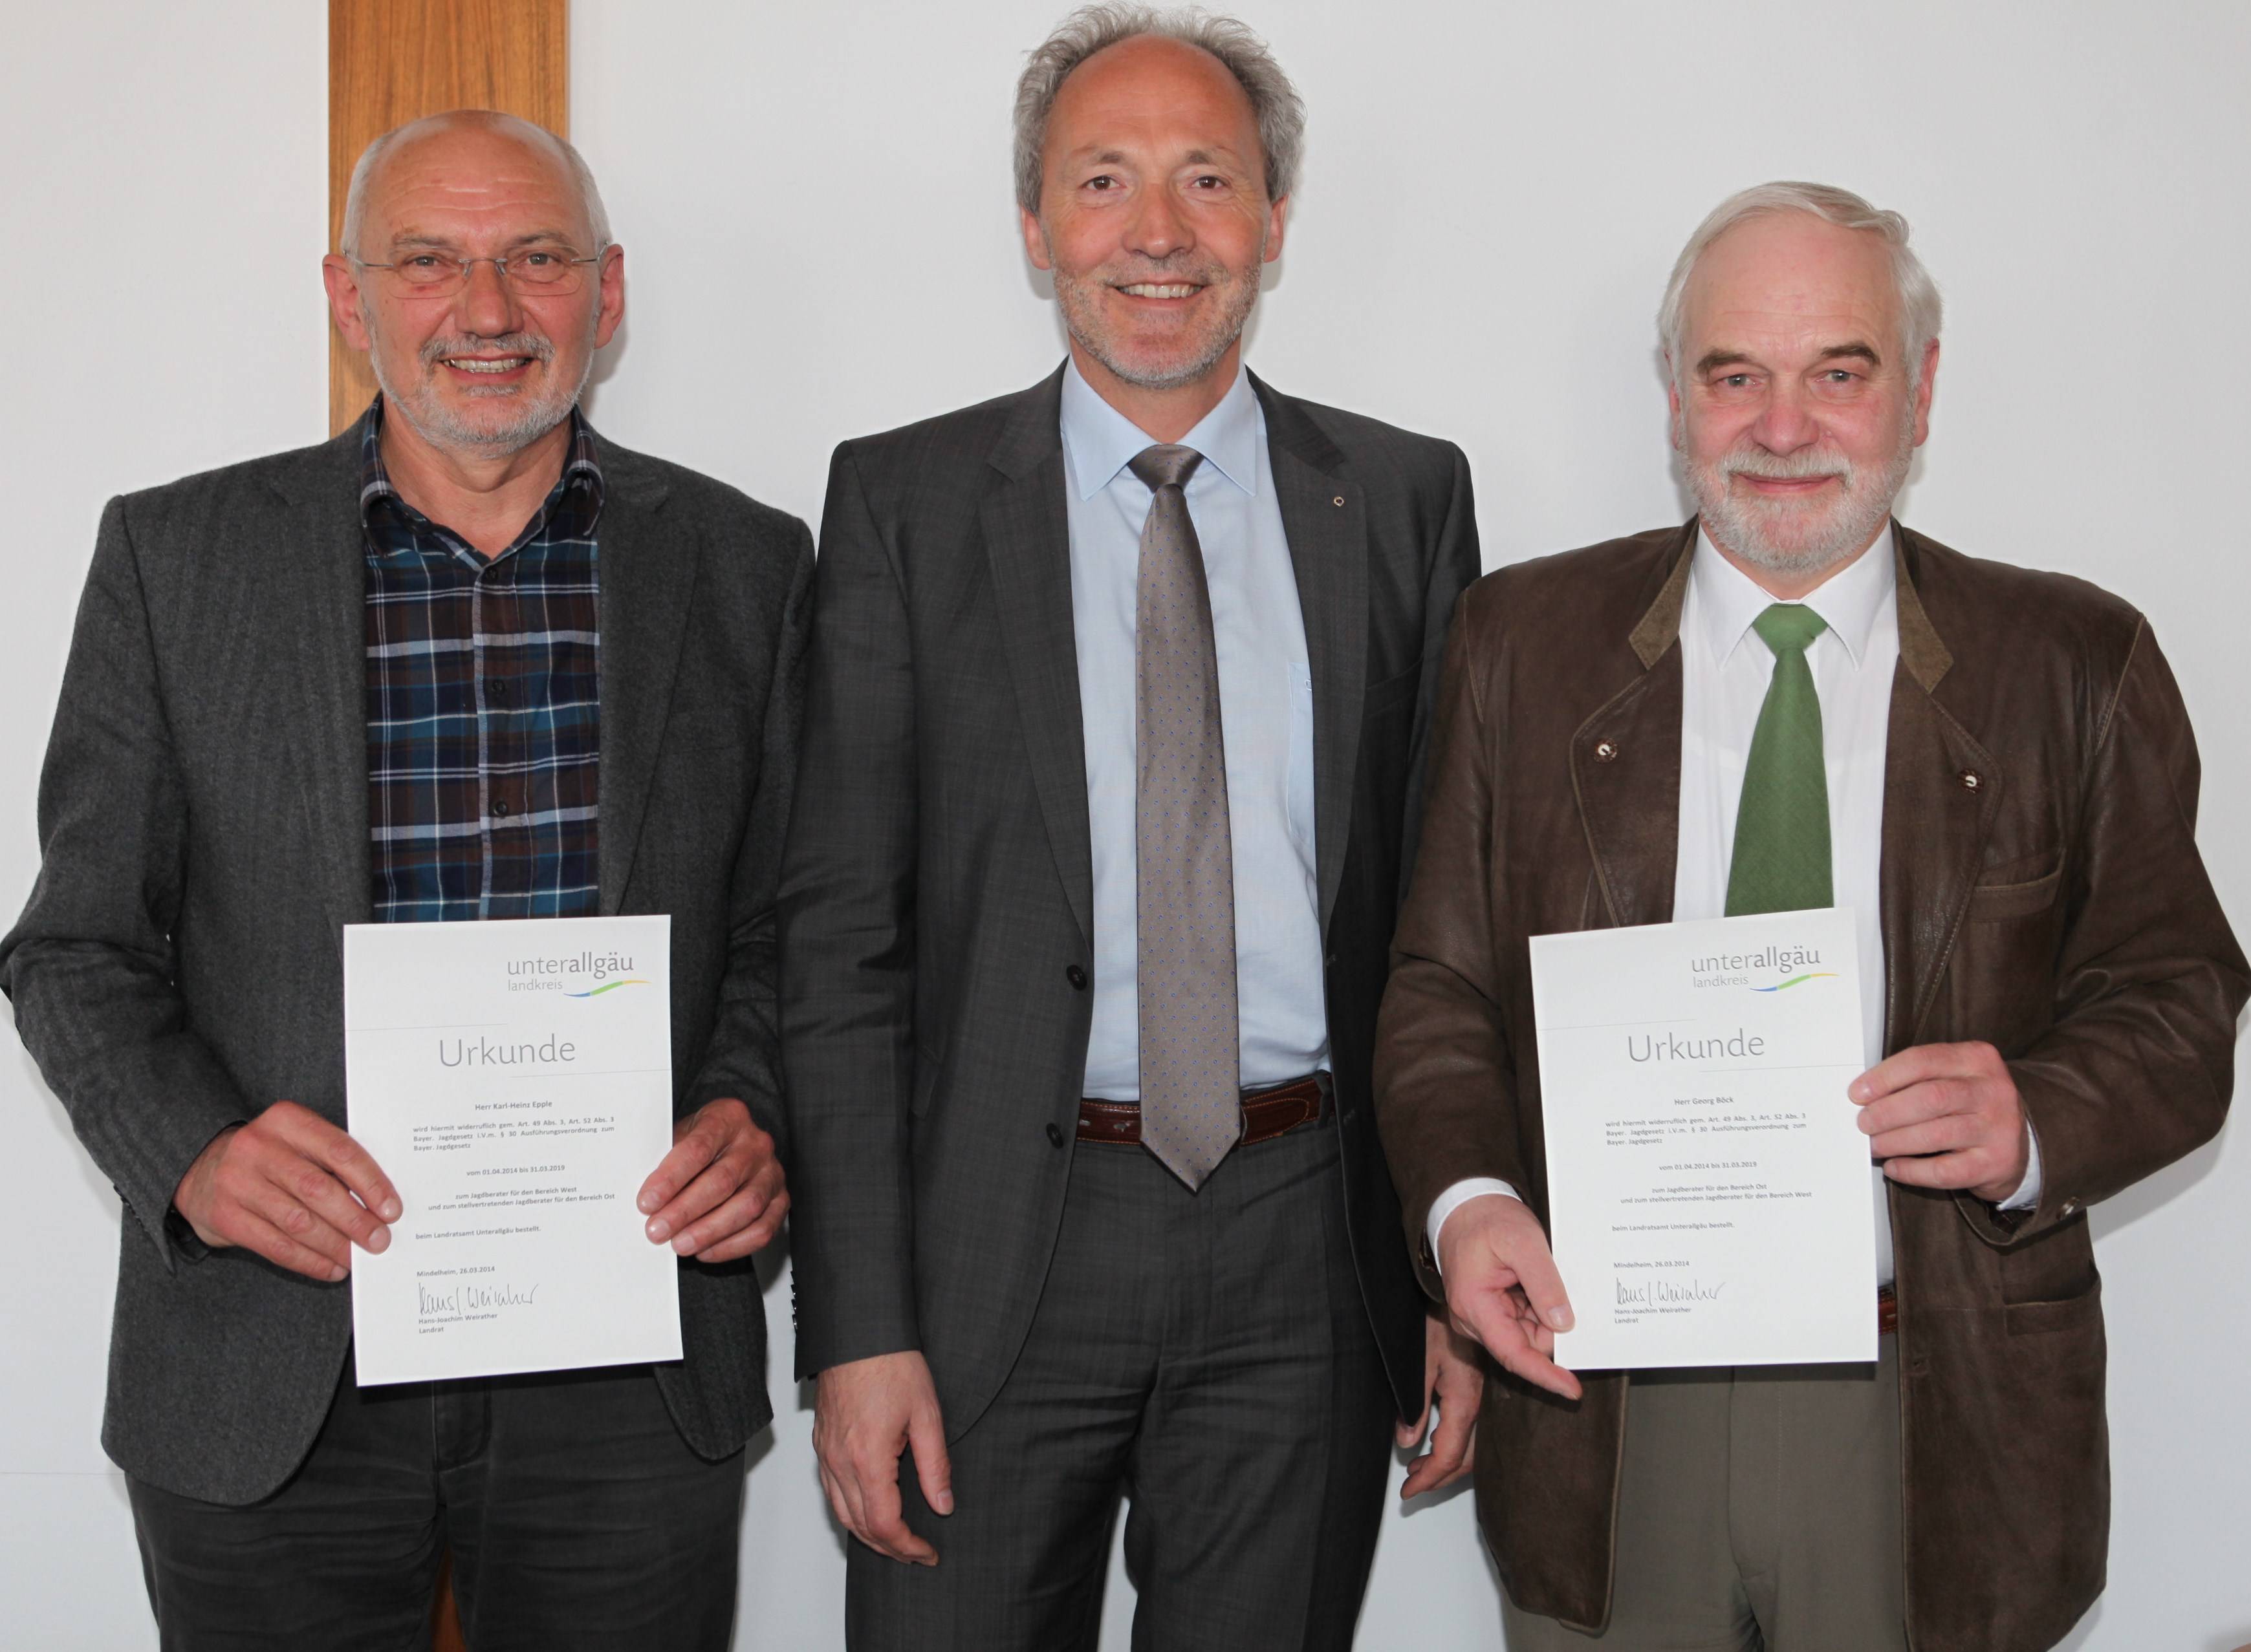
<path fill-rule="evenodd" d="M 387 1249 L 401 1209 L 367 1148 L 295 1101 L 212 1137 L 171 1204 L 205 1245 L 324 1283 L 351 1272 L 353 1245 Z"/>

